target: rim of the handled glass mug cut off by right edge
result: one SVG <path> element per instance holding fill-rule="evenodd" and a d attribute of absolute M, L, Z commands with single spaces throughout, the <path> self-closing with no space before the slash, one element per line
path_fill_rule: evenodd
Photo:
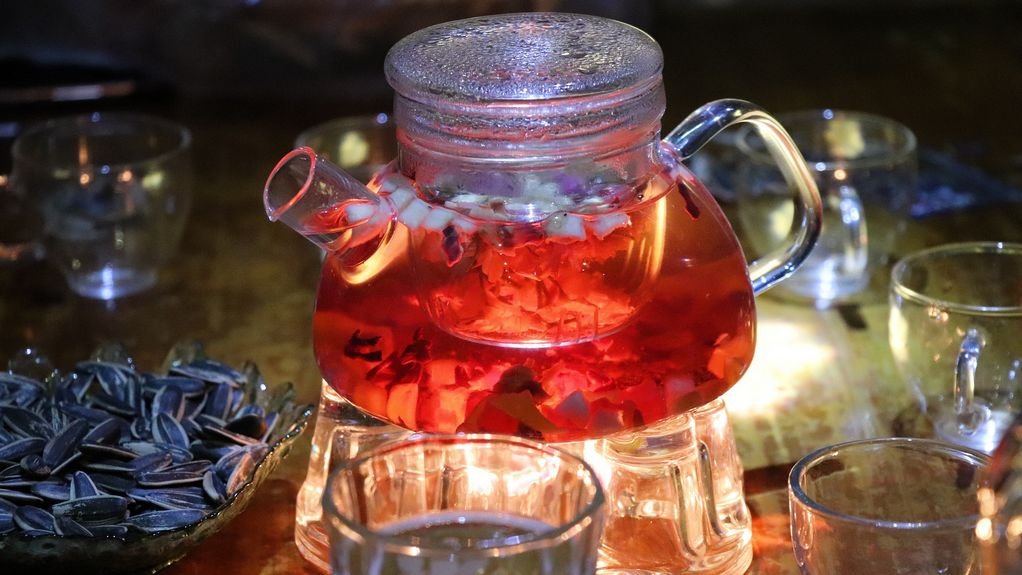
<path fill-rule="evenodd" d="M 1017 305 L 976 305 L 972 303 L 962 303 L 921 293 L 904 285 L 901 281 L 901 278 L 904 276 L 908 269 L 920 260 L 928 259 L 933 256 L 962 255 L 968 253 L 990 253 L 1012 255 L 1022 258 L 1022 243 L 958 242 L 942 244 L 916 251 L 898 259 L 897 262 L 894 263 L 894 267 L 891 268 L 891 292 L 908 299 L 909 301 L 923 305 L 932 305 L 948 312 L 985 316 L 1022 316 L 1022 301 L 1020 301 Z"/>

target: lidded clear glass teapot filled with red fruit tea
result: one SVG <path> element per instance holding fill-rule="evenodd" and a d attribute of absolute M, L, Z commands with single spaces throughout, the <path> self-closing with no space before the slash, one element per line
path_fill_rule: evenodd
<path fill-rule="evenodd" d="M 310 148 L 264 200 L 327 252 L 316 357 L 342 396 L 417 431 L 547 441 L 665 420 L 748 367 L 753 295 L 790 275 L 820 197 L 790 138 L 741 100 L 663 140 L 662 54 L 587 15 L 435 26 L 386 58 L 399 155 L 367 186 Z M 751 123 L 797 190 L 789 242 L 746 263 L 683 165 Z"/>

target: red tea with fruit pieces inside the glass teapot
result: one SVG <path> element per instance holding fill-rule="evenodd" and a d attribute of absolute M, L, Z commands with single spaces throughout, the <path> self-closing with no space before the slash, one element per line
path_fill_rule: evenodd
<path fill-rule="evenodd" d="M 452 249 L 450 230 L 397 225 L 368 261 L 328 256 L 314 320 L 324 378 L 399 426 L 545 441 L 717 397 L 752 360 L 754 303 L 730 225 L 685 178 L 651 182 L 609 232 L 480 232 Z"/>

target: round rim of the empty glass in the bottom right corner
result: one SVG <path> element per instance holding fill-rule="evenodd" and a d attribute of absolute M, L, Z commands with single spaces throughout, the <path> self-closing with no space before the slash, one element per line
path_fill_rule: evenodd
<path fill-rule="evenodd" d="M 874 446 L 901 446 L 910 447 L 916 451 L 941 451 L 945 453 L 955 453 L 956 459 L 960 461 L 970 461 L 976 467 L 977 473 L 981 472 L 983 467 L 989 464 L 989 456 L 977 451 L 975 449 L 957 445 L 954 443 L 948 443 L 946 441 L 938 441 L 936 439 L 924 439 L 916 437 L 876 437 L 871 439 L 855 439 L 852 441 L 844 441 L 842 443 L 835 443 L 833 445 L 827 445 L 816 449 L 815 451 L 806 454 L 802 459 L 798 460 L 794 466 L 791 468 L 791 472 L 788 474 L 788 498 L 792 502 L 797 501 L 801 506 L 809 509 L 814 514 L 825 516 L 827 518 L 841 521 L 844 523 L 861 525 L 866 527 L 872 527 L 877 529 L 920 529 L 927 531 L 938 531 L 938 530 L 958 530 L 958 529 L 971 529 L 976 525 L 979 520 L 979 512 L 975 514 L 963 515 L 961 517 L 953 517 L 947 519 L 940 519 L 936 521 L 891 521 L 886 519 L 874 519 L 863 517 L 858 515 L 851 515 L 848 513 L 836 511 L 830 507 L 814 499 L 801 486 L 801 478 L 805 472 L 815 467 L 816 465 L 823 463 L 829 459 L 836 457 L 840 451 L 847 449 L 858 449 L 862 447 L 874 447 Z"/>

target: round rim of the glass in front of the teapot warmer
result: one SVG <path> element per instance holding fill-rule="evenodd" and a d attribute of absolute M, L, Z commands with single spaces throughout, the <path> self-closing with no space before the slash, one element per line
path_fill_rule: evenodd
<path fill-rule="evenodd" d="M 545 443 L 539 441 L 533 441 L 531 439 L 525 439 L 522 437 L 516 437 L 511 435 L 496 435 L 486 433 L 467 433 L 467 434 L 415 434 L 405 439 L 396 440 L 383 443 L 382 445 L 370 449 L 366 453 L 345 462 L 341 468 L 352 469 L 360 465 L 364 465 L 370 460 L 374 459 L 383 453 L 389 453 L 392 451 L 398 451 L 402 449 L 409 448 L 414 445 L 443 445 L 449 443 L 489 443 L 497 445 L 506 446 L 518 446 L 525 447 L 528 449 L 533 449 L 542 451 L 548 456 L 554 456 L 561 460 L 576 462 L 580 464 L 580 468 L 584 470 L 585 474 L 591 479 L 593 485 L 593 498 L 586 507 L 579 511 L 570 521 L 564 522 L 563 525 L 550 526 L 549 529 L 544 529 L 542 531 L 530 532 L 524 535 L 515 535 L 515 539 L 511 543 L 507 544 L 495 544 L 487 545 L 484 547 L 469 547 L 457 549 L 457 554 L 460 557 L 467 558 L 482 558 L 482 557 L 507 557 L 510 555 L 517 555 L 521 553 L 542 549 L 559 544 L 565 540 L 568 540 L 575 535 L 577 535 L 583 530 L 589 528 L 594 521 L 596 521 L 596 515 L 600 509 L 605 505 L 605 493 L 603 491 L 603 486 L 600 483 L 599 477 L 596 475 L 596 471 L 589 465 L 588 462 L 582 458 L 569 453 L 563 449 L 552 447 Z M 338 470 L 340 471 L 340 470 Z M 408 539 L 406 536 L 400 535 L 386 535 L 379 533 L 373 529 L 367 528 L 365 525 L 356 523 L 350 519 L 350 517 L 341 513 L 334 504 L 334 484 L 338 481 L 340 473 L 331 473 L 327 479 L 326 488 L 324 491 L 323 506 L 324 511 L 329 512 L 333 517 L 336 517 L 342 528 L 349 531 L 350 535 L 355 535 L 359 542 L 365 541 L 375 541 L 388 553 L 393 553 L 396 555 L 408 556 L 415 555 L 418 557 L 450 557 L 452 550 L 450 546 L 426 546 L 421 542 L 415 543 Z M 325 518 L 324 518 L 325 519 Z M 487 539 L 490 541 L 504 541 L 512 537 L 495 538 Z"/>

